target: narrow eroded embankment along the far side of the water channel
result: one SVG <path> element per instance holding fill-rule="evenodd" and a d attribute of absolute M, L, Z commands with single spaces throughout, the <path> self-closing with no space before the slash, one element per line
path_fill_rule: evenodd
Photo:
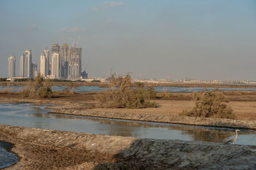
<path fill-rule="evenodd" d="M 51 113 L 68 115 L 81 115 L 86 117 L 116 118 L 124 120 L 139 120 L 146 122 L 160 122 L 168 124 L 200 125 L 210 127 L 228 127 L 236 129 L 256 129 L 255 120 L 232 120 L 225 118 L 201 118 L 201 117 L 173 117 L 148 114 L 112 113 L 93 110 L 76 110 L 70 108 L 56 108 Z"/>

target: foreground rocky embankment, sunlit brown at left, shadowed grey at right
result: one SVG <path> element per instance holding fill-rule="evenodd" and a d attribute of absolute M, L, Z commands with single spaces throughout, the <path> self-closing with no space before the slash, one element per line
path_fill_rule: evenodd
<path fill-rule="evenodd" d="M 0 125 L 20 161 L 7 169 L 255 169 L 256 147 Z"/>

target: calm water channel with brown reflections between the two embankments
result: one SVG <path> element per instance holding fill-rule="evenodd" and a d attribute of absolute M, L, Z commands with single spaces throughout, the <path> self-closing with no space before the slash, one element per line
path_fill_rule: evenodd
<path fill-rule="evenodd" d="M 109 118 L 49 114 L 45 105 L 0 104 L 0 124 L 22 125 L 61 131 L 88 132 L 136 138 L 180 139 L 224 142 L 234 137 L 234 129 L 160 124 Z M 236 144 L 256 145 L 255 131 L 241 131 Z"/>

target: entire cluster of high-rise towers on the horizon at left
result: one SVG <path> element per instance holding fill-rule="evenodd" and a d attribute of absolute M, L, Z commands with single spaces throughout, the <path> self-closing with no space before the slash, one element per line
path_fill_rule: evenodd
<path fill-rule="evenodd" d="M 26 50 L 20 56 L 20 77 L 33 78 L 38 74 L 36 63 L 31 62 L 31 50 Z M 63 78 L 68 80 L 81 79 L 82 48 L 67 43 L 54 43 L 50 51 L 45 48 L 40 55 L 40 74 L 49 78 Z M 15 56 L 8 58 L 8 76 L 15 77 Z"/>

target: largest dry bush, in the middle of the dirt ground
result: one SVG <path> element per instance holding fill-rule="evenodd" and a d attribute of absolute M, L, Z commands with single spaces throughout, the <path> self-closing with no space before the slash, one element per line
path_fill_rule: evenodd
<path fill-rule="evenodd" d="M 104 108 L 148 108 L 157 104 L 150 99 L 156 97 L 152 88 L 144 88 L 143 83 L 132 87 L 131 76 L 111 76 L 109 90 L 100 92 L 97 100 Z"/>

